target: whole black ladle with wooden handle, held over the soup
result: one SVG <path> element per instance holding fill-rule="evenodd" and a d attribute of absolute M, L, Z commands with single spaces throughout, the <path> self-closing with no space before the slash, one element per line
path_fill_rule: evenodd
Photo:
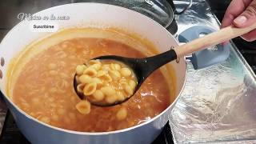
<path fill-rule="evenodd" d="M 217 45 L 221 42 L 226 42 L 231 38 L 235 38 L 241 36 L 242 34 L 246 34 L 251 30 L 256 29 L 256 23 L 251 26 L 245 28 L 236 28 L 234 26 L 228 26 L 222 30 L 218 30 L 214 33 L 207 34 L 202 38 L 195 39 L 192 42 L 188 42 L 185 45 L 175 47 L 175 49 L 168 50 L 162 54 L 158 54 L 148 58 L 126 58 L 116 55 L 106 55 L 100 56 L 98 58 L 93 58 L 94 60 L 98 59 L 100 61 L 109 60 L 109 61 L 117 61 L 122 62 L 124 65 L 129 66 L 130 70 L 134 72 L 136 78 L 138 80 L 137 85 L 134 88 L 133 94 L 142 86 L 142 83 L 145 79 L 159 67 L 165 65 L 168 62 L 171 62 L 177 58 L 182 58 L 187 54 L 192 54 L 198 50 L 206 49 L 209 46 Z M 74 90 L 78 94 L 80 98 L 84 98 L 83 94 L 79 94 L 77 90 L 78 82 L 76 82 L 76 75 L 74 76 Z M 95 106 L 114 106 L 121 104 L 122 102 L 126 102 L 129 98 L 126 97 L 123 101 L 118 101 L 114 103 L 106 103 L 106 102 L 94 102 L 90 98 L 87 98 L 93 105 Z"/>

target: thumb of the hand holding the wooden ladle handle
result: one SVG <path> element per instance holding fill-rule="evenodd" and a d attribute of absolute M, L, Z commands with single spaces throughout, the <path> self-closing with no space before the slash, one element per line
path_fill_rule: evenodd
<path fill-rule="evenodd" d="M 256 0 L 250 2 L 246 10 L 234 19 L 234 26 L 246 27 L 256 22 Z"/>

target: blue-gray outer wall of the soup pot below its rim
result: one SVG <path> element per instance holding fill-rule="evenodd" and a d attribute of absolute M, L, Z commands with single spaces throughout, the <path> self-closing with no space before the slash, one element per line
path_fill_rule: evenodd
<path fill-rule="evenodd" d="M 72 131 L 58 130 L 53 126 L 47 126 L 37 122 L 34 118 L 23 114 L 16 106 L 13 106 L 9 100 L 4 97 L 11 114 L 13 114 L 18 128 L 22 134 L 35 144 L 134 144 L 134 143 L 150 143 L 161 133 L 163 126 L 168 120 L 170 107 L 165 113 L 142 126 L 135 126 L 130 130 L 121 130 L 115 133 L 80 133 Z"/>

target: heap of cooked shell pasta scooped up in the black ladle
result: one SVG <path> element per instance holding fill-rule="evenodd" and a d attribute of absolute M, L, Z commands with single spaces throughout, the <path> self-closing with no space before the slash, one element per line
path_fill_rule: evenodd
<path fill-rule="evenodd" d="M 122 102 L 137 85 L 132 70 L 118 62 L 90 60 L 86 66 L 77 66 L 76 74 L 77 90 L 90 102 Z"/>

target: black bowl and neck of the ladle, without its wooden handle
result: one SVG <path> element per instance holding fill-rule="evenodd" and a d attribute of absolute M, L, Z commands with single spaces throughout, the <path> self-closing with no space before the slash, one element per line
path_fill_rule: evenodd
<path fill-rule="evenodd" d="M 161 60 L 158 60 L 158 59 Z M 129 98 L 131 98 L 137 90 L 142 86 L 142 83 L 145 81 L 145 79 L 152 73 L 154 70 L 157 70 L 160 66 L 163 66 L 167 62 L 170 62 L 174 59 L 176 59 L 176 54 L 174 50 L 166 51 L 165 53 L 155 55 L 153 57 L 148 58 L 126 58 L 121 57 L 117 55 L 106 55 L 106 56 L 100 56 L 97 58 L 93 58 L 93 60 L 100 60 L 100 61 L 115 61 L 115 62 L 121 62 L 122 64 L 128 66 L 130 70 L 134 72 L 134 75 L 137 78 L 137 85 L 134 88 L 133 94 L 130 95 L 130 97 L 126 97 L 123 101 L 117 101 L 114 103 L 107 103 L 107 102 L 97 102 L 94 101 L 93 98 L 88 98 L 87 100 L 93 104 L 94 106 L 114 106 L 121 104 L 122 102 L 126 102 Z M 78 82 L 76 80 L 77 74 L 74 75 L 74 90 L 78 94 L 78 97 L 83 99 L 86 96 L 78 91 Z"/>

